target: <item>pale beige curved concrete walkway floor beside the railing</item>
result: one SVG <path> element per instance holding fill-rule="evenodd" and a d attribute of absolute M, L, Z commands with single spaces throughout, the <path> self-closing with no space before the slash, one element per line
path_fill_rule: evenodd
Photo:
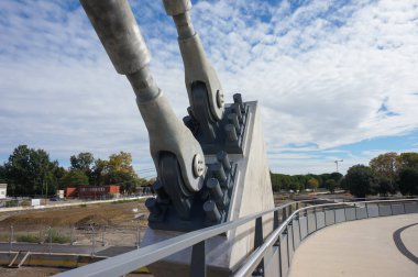
<path fill-rule="evenodd" d="M 290 277 L 418 276 L 418 214 L 340 223 L 307 237 Z"/>

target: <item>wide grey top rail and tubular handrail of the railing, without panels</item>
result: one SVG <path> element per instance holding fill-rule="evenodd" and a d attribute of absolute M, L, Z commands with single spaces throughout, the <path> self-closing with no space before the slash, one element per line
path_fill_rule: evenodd
<path fill-rule="evenodd" d="M 295 203 L 304 203 L 304 202 L 312 202 L 316 199 L 312 200 L 304 200 L 304 201 L 294 201 L 289 202 L 279 207 L 276 207 L 274 209 L 258 212 L 255 214 L 246 215 L 241 219 L 237 219 L 231 222 L 226 222 L 219 225 L 209 226 L 202 230 L 193 231 L 156 244 L 152 244 L 148 246 L 145 246 L 143 248 L 139 248 L 135 251 L 131 251 L 114 257 L 107 258 L 101 262 L 97 262 L 84 267 L 79 267 L 69 272 L 61 273 L 56 276 L 59 277 L 66 277 L 66 276 L 122 276 L 127 273 L 133 272 L 142 266 L 150 265 L 154 262 L 157 262 L 164 257 L 167 257 L 172 254 L 178 253 L 183 250 L 189 248 L 200 242 L 204 242 L 208 239 L 211 239 L 216 235 L 226 233 L 232 229 L 235 229 L 240 225 L 243 225 L 248 222 L 251 222 L 253 220 L 256 220 L 258 218 L 262 218 L 264 215 L 267 215 L 270 213 L 276 212 L 282 209 L 286 209 L 289 206 L 293 206 Z M 373 203 L 373 202 L 399 202 L 399 201 L 418 201 L 418 199 L 399 199 L 399 200 L 372 200 L 372 201 L 360 201 L 360 202 L 350 202 L 350 203 Z M 245 263 L 250 264 L 250 266 L 243 266 L 242 268 L 237 272 L 238 276 L 241 276 L 239 274 L 241 273 L 248 273 L 248 270 L 253 269 L 253 267 L 256 267 L 257 263 L 263 257 L 265 251 L 268 248 L 268 246 L 272 246 L 274 244 L 274 241 L 277 240 L 278 235 L 283 232 L 284 228 L 287 226 L 287 224 L 290 222 L 290 220 L 294 219 L 294 217 L 305 210 L 314 209 L 314 208 L 320 208 L 320 207 L 334 207 L 334 206 L 346 206 L 346 202 L 333 202 L 333 203 L 324 203 L 324 204 L 315 204 L 309 207 L 302 207 L 293 212 L 276 230 L 271 233 L 267 239 L 263 242 L 263 244 L 257 247 L 248 258 L 248 262 L 252 263 Z M 260 259 L 260 261 L 258 261 Z M 255 266 L 252 266 L 254 265 Z"/>

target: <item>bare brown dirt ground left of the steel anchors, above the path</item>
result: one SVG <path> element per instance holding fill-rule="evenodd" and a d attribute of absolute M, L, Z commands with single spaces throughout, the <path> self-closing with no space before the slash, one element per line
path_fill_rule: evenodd
<path fill-rule="evenodd" d="M 103 245 L 133 246 L 147 226 L 144 200 L 68 208 L 0 213 L 0 241 L 19 235 L 45 237 L 50 226 L 74 244 L 90 245 L 92 237 Z"/>

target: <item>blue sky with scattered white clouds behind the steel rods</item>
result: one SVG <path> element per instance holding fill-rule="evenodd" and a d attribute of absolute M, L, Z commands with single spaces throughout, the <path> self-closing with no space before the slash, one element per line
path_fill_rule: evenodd
<path fill-rule="evenodd" d="M 151 70 L 187 114 L 177 33 L 162 1 L 130 1 Z M 193 1 L 191 18 L 227 102 L 257 100 L 271 170 L 345 173 L 418 152 L 418 0 Z M 68 167 L 91 152 L 133 156 L 153 177 L 147 132 L 75 0 L 0 1 L 0 164 L 20 144 Z"/>

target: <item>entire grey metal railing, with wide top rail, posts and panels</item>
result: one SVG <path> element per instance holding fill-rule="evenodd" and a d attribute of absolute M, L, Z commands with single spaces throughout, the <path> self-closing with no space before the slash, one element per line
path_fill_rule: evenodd
<path fill-rule="evenodd" d="M 263 276 L 265 255 L 278 250 L 279 273 L 287 276 L 293 254 L 309 234 L 340 222 L 418 212 L 418 199 L 374 200 L 316 204 L 318 200 L 290 202 L 257 214 L 186 233 L 136 251 L 79 267 L 57 276 L 122 276 L 191 247 L 190 276 L 206 276 L 206 241 L 255 221 L 254 251 L 233 276 Z M 263 239 L 263 217 L 273 213 L 273 232 Z"/>

